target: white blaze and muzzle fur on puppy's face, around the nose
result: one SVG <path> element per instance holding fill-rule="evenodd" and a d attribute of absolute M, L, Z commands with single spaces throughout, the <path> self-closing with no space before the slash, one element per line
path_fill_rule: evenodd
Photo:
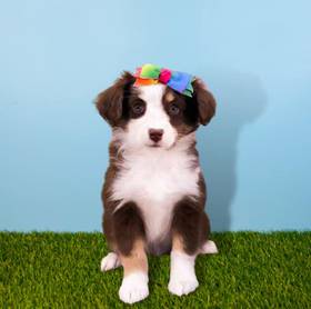
<path fill-rule="evenodd" d="M 158 142 L 161 148 L 170 148 L 175 142 L 178 132 L 162 104 L 164 90 L 165 86 L 160 83 L 139 87 L 139 98 L 146 102 L 146 112 L 140 118 L 131 119 L 127 126 L 126 142 L 131 148 L 152 146 L 150 129 L 163 130 L 162 139 Z"/>

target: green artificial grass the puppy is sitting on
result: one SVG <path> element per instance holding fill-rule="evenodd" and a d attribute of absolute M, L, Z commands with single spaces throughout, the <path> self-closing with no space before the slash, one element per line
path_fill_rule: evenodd
<path fill-rule="evenodd" d="M 169 256 L 151 257 L 150 296 L 133 308 L 311 308 L 311 232 L 214 233 L 200 256 L 200 287 L 167 289 Z M 0 232 L 0 308 L 122 308 L 122 270 L 99 270 L 100 233 Z"/>

